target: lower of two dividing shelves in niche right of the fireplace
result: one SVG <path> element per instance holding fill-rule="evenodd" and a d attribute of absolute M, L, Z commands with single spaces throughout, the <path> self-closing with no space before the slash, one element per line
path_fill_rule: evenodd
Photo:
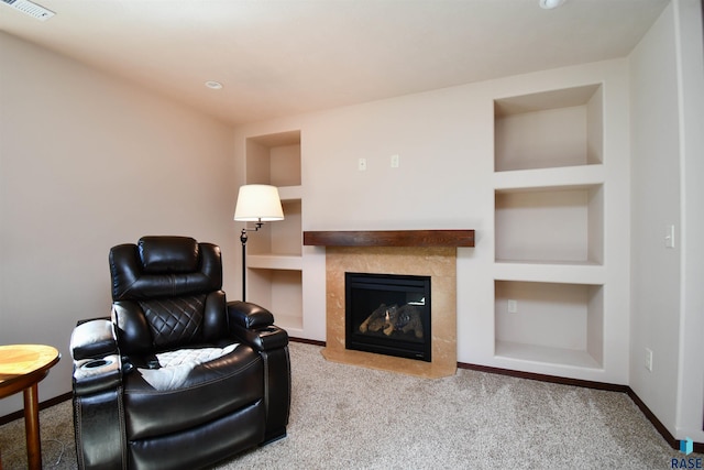
<path fill-rule="evenodd" d="M 602 264 L 572 261 L 497 261 L 494 280 L 602 285 L 606 271 Z"/>

